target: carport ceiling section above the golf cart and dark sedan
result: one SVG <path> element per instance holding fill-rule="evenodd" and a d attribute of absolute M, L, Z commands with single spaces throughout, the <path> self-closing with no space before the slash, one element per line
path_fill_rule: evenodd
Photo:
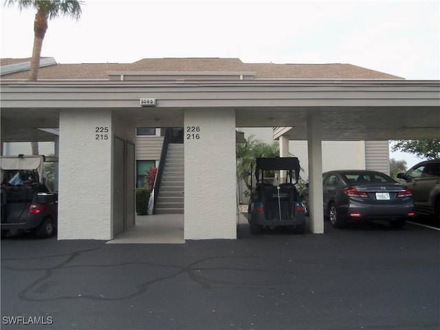
<path fill-rule="evenodd" d="M 318 115 L 322 140 L 400 140 L 440 137 L 440 109 L 350 107 L 237 109 L 238 127 L 292 126 L 289 140 L 307 140 L 307 116 Z"/>

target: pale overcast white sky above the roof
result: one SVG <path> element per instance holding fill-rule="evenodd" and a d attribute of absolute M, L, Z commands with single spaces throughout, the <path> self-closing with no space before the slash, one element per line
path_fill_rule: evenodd
<path fill-rule="evenodd" d="M 3 2 L 0 58 L 28 58 L 35 12 Z M 78 21 L 49 22 L 41 55 L 58 63 L 164 57 L 349 63 L 440 80 L 440 0 L 85 1 Z"/>

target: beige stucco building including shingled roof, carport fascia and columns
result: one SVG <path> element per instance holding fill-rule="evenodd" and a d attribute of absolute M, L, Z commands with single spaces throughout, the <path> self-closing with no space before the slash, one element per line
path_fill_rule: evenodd
<path fill-rule="evenodd" d="M 362 167 L 370 166 L 369 144 L 440 135 L 438 81 L 355 65 L 44 58 L 39 81 L 30 82 L 27 62 L 1 60 L 1 141 L 55 142 L 58 239 L 109 240 L 134 225 L 135 160 L 157 161 L 163 139 L 139 128 L 184 128 L 185 239 L 236 238 L 236 127 L 275 127 L 283 153 L 289 140 L 307 144 L 315 233 L 323 232 L 322 141 L 359 144 Z M 201 211 L 206 205 L 210 212 Z"/>

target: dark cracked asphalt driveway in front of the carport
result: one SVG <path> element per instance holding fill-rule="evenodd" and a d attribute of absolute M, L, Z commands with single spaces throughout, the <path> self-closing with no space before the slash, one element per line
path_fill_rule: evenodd
<path fill-rule="evenodd" d="M 440 329 L 440 232 L 1 241 L 1 329 Z M 39 323 L 37 325 L 37 323 Z"/>

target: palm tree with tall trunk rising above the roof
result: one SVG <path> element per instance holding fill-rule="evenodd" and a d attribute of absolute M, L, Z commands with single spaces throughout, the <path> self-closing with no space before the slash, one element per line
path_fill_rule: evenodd
<path fill-rule="evenodd" d="M 5 0 L 5 5 L 17 5 L 19 10 L 34 8 L 34 48 L 30 62 L 29 80 L 36 81 L 39 75 L 41 47 L 47 31 L 47 21 L 60 16 L 79 19 L 81 4 L 76 0 Z"/>

